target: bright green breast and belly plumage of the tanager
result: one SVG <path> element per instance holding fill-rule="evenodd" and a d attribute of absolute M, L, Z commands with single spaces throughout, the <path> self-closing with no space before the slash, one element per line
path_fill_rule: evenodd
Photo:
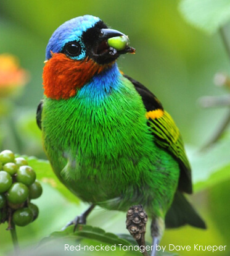
<path fill-rule="evenodd" d="M 133 84 L 122 78 L 103 97 L 87 93 L 92 92 L 86 88 L 68 100 L 44 100 L 44 148 L 55 174 L 85 201 L 112 202 L 107 208 L 147 204 L 154 197 L 156 206 L 166 208 L 177 186 L 178 164 L 155 145 Z M 164 192 L 169 198 L 161 199 Z"/>

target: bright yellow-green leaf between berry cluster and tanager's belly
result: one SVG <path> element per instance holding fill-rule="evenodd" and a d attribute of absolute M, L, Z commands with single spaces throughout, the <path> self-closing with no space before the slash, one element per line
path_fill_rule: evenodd
<path fill-rule="evenodd" d="M 35 157 L 27 158 L 28 164 L 35 170 L 36 177 L 39 181 L 49 184 L 51 187 L 59 190 L 59 192 L 67 198 L 68 201 L 79 203 L 80 200 L 70 192 L 55 176 L 52 171 L 51 164 L 46 160 L 39 160 Z"/>

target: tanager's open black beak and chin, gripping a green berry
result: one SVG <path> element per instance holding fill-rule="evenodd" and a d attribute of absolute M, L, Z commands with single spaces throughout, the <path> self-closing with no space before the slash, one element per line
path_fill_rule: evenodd
<path fill-rule="evenodd" d="M 128 46 L 128 43 L 125 49 L 122 49 L 121 51 L 109 46 L 108 39 L 116 36 L 126 35 L 118 30 L 110 28 L 102 28 L 100 30 L 96 46 L 94 49 L 92 49 L 92 59 L 94 59 L 94 61 L 96 61 L 98 64 L 109 64 L 110 62 L 115 61 L 120 56 L 120 54 L 135 53 L 135 49 Z"/>

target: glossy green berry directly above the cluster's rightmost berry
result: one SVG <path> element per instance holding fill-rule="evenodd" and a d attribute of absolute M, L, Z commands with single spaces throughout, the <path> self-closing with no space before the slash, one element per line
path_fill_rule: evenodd
<path fill-rule="evenodd" d="M 36 174 L 33 169 L 28 165 L 20 166 L 17 171 L 16 181 L 22 182 L 23 184 L 30 186 L 35 182 Z"/>

